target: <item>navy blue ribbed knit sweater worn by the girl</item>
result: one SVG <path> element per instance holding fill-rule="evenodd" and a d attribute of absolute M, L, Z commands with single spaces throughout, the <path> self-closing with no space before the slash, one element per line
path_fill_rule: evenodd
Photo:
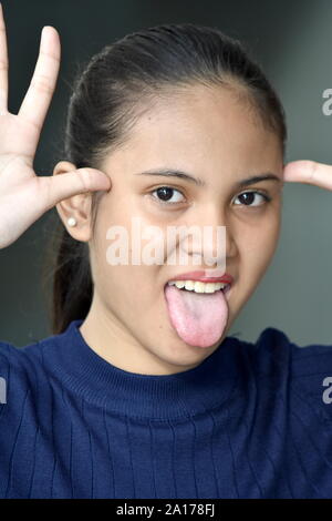
<path fill-rule="evenodd" d="M 0 343 L 1 498 L 332 498 L 332 346 L 267 328 L 139 375 L 100 357 L 82 321 Z"/>

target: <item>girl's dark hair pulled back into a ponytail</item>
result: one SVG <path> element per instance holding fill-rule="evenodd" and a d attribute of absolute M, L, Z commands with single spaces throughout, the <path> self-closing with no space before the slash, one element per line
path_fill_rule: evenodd
<path fill-rule="evenodd" d="M 125 144 L 144 111 L 162 96 L 181 93 L 195 84 L 220 85 L 245 99 L 251 113 L 280 137 L 284 155 L 287 127 L 282 105 L 243 45 L 218 29 L 180 23 L 127 34 L 79 70 L 65 122 L 65 161 L 77 168 L 101 170 L 106 155 Z M 92 194 L 93 223 L 98 194 Z M 72 320 L 86 317 L 93 280 L 89 244 L 72 238 L 58 214 L 55 218 L 45 257 L 49 275 L 44 272 L 43 284 L 50 296 L 52 333 L 60 334 Z"/>

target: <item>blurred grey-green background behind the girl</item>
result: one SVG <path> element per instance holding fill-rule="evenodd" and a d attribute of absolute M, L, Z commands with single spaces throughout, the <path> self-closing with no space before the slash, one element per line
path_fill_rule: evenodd
<path fill-rule="evenodd" d="M 52 174 L 61 155 L 76 64 L 128 32 L 159 23 L 217 27 L 240 39 L 276 88 L 287 114 L 287 162 L 332 164 L 332 115 L 322 93 L 332 89 L 330 0 L 2 0 L 9 45 L 9 110 L 29 88 L 43 25 L 60 33 L 62 62 L 34 167 Z M 41 287 L 48 212 L 0 251 L 0 340 L 25 346 L 51 335 Z M 332 346 L 332 192 L 288 183 L 278 251 L 229 335 L 256 341 L 266 327 L 300 346 Z"/>

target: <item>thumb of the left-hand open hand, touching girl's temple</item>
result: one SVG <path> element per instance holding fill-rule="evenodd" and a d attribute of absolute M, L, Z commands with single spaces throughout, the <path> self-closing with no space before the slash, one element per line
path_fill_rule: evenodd
<path fill-rule="evenodd" d="M 111 178 L 95 168 L 79 168 L 53 176 L 38 176 L 35 180 L 39 183 L 38 201 L 41 201 L 44 211 L 73 195 L 110 191 L 112 187 Z"/>

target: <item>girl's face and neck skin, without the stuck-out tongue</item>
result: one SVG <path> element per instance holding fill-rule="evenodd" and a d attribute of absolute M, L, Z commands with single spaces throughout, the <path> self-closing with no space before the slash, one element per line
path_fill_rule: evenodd
<path fill-rule="evenodd" d="M 160 168 L 185 172 L 204 185 L 180 177 L 141 175 Z M 152 106 L 126 145 L 101 167 L 110 175 L 112 190 L 100 202 L 90 241 L 94 297 L 81 326 L 86 341 L 112 364 L 132 372 L 173 374 L 199 365 L 227 336 L 273 256 L 281 224 L 282 168 L 277 134 L 264 129 L 248 105 L 228 90 L 195 86 Z M 245 178 L 267 173 L 277 180 L 240 185 Z M 160 191 L 156 192 L 162 186 L 172 188 L 167 191 L 168 204 Z M 214 345 L 191 346 L 178 336 L 164 294 L 165 284 L 175 275 L 214 266 L 204 259 L 195 267 L 169 265 L 167 253 L 164 264 L 132 265 L 134 217 L 142 228 L 164 229 L 165 237 L 170 225 L 208 225 L 215 231 L 226 226 L 226 272 L 234 277 L 234 285 L 227 326 Z M 127 229 L 128 265 L 107 262 L 112 241 L 106 233 L 115 225 Z M 69 232 L 74 236 L 74 228 Z"/>

